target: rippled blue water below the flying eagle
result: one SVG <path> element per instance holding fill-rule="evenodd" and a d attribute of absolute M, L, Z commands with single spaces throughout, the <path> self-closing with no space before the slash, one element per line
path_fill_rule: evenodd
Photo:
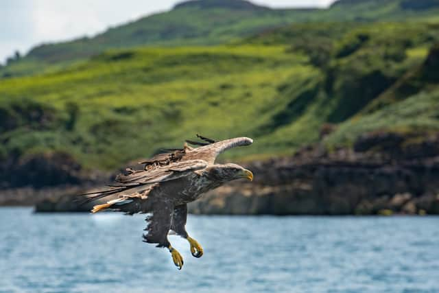
<path fill-rule="evenodd" d="M 439 292 L 438 217 L 189 215 L 181 271 L 143 219 L 0 208 L 0 292 Z"/>

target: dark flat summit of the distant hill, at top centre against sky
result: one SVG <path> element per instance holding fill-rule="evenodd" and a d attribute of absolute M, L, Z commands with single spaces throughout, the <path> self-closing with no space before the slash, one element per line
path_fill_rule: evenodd
<path fill-rule="evenodd" d="M 256 5 L 244 0 L 190 0 L 178 3 L 174 9 L 178 8 L 198 8 L 198 9 L 212 9 L 212 8 L 226 8 L 232 10 L 270 10 L 265 6 Z"/>

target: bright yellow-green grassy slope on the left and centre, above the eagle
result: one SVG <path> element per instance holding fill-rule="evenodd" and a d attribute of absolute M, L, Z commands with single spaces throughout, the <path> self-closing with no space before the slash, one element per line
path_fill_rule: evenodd
<path fill-rule="evenodd" d="M 3 123 L 3 154 L 67 150 L 84 165 L 116 167 L 179 147 L 195 132 L 251 136 L 283 99 L 279 85 L 318 75 L 306 61 L 282 46 L 134 49 L 56 74 L 5 80 L 1 104 L 15 127 Z M 38 125 L 23 117 L 32 112 L 23 106 L 26 97 L 47 113 Z M 262 147 L 256 143 L 252 152 Z"/>

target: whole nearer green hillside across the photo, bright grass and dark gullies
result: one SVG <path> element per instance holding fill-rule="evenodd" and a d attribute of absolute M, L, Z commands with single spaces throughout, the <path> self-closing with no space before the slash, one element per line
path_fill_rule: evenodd
<path fill-rule="evenodd" d="M 111 169 L 199 132 L 254 137 L 228 156 L 292 154 L 337 130 L 439 130 L 439 25 L 303 23 L 233 45 L 115 49 L 0 82 L 0 158 L 72 154 Z"/>

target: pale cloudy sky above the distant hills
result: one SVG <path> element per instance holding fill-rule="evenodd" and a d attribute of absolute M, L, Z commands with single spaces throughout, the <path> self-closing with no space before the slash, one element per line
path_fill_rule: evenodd
<path fill-rule="evenodd" d="M 324 7 L 334 0 L 254 0 L 272 8 Z M 179 0 L 1 0 L 0 63 L 34 45 L 93 36 L 110 26 L 171 9 Z M 111 5 L 108 5 L 111 3 Z"/>

